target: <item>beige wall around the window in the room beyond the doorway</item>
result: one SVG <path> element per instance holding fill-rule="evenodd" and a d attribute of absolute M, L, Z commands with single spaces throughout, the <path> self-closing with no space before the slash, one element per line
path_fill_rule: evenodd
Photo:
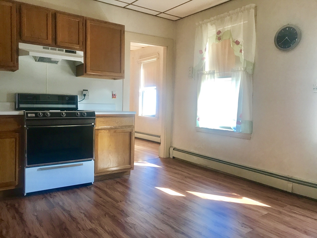
<path fill-rule="evenodd" d="M 158 75 L 158 117 L 139 116 L 139 88 L 140 88 L 140 63 L 136 61 L 159 54 L 159 75 Z M 162 82 L 163 82 L 163 47 L 147 46 L 130 53 L 130 111 L 136 111 L 135 131 L 161 135 L 162 125 Z"/>

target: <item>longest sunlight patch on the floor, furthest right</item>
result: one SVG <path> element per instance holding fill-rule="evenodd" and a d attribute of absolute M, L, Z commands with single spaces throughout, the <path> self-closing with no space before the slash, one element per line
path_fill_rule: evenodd
<path fill-rule="evenodd" d="M 247 197 L 235 198 L 235 197 L 228 197 L 228 196 L 213 195 L 213 194 L 208 194 L 208 193 L 197 193 L 197 192 L 190 192 L 190 191 L 186 191 L 186 192 L 191 193 L 193 195 L 196 195 L 198 197 L 204 198 L 204 199 L 223 201 L 223 202 L 236 202 L 236 203 L 270 207 L 268 205 L 265 205 L 261 202 L 257 202 L 255 200 L 252 200 L 252 199 L 247 198 Z"/>

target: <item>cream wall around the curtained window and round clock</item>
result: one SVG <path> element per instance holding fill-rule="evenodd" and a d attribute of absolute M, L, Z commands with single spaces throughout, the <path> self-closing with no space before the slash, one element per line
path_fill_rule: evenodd
<path fill-rule="evenodd" d="M 257 5 L 251 140 L 196 132 L 195 23 Z M 317 182 L 317 1 L 233 0 L 176 22 L 172 146 L 282 175 Z M 276 31 L 295 24 L 301 42 L 289 52 L 274 45 Z"/>

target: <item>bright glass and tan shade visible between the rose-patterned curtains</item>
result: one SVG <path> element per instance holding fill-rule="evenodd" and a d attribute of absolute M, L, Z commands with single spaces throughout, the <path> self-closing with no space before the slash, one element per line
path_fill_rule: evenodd
<path fill-rule="evenodd" d="M 241 66 L 241 62 L 230 44 L 230 39 L 211 45 L 207 42 L 197 102 L 198 127 L 236 130 L 238 97 L 231 69 Z"/>

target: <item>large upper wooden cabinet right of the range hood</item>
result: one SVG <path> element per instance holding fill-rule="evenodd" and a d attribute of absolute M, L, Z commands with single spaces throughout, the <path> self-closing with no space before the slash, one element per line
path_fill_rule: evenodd
<path fill-rule="evenodd" d="M 76 76 L 124 78 L 124 25 L 86 19 L 85 64 Z"/>

